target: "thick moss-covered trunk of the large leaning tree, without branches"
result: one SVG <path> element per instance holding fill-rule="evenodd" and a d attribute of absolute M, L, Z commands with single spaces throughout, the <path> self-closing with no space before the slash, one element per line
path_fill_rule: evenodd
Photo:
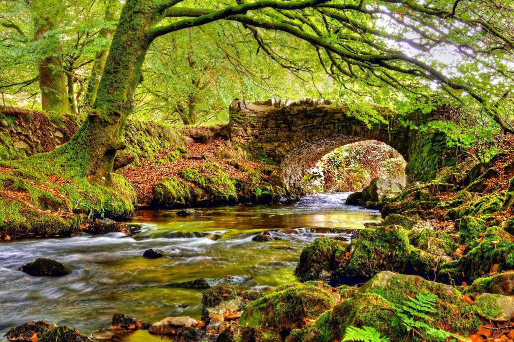
<path fill-rule="evenodd" d="M 152 39 L 146 34 L 161 19 L 150 0 L 128 0 L 106 58 L 97 96 L 87 119 L 59 153 L 91 181 L 111 183 L 114 159 L 123 149 L 123 129 L 134 107 L 134 92 Z"/>

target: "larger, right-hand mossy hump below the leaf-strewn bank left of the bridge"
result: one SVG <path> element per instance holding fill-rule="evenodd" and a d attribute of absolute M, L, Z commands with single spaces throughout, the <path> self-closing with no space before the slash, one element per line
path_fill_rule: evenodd
<path fill-rule="evenodd" d="M 235 203 L 237 200 L 234 183 L 216 163 L 187 168 L 179 175 L 199 187 L 213 202 Z"/>

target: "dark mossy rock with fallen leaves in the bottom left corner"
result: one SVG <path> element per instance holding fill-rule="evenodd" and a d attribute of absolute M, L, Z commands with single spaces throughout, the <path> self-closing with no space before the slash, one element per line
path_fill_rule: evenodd
<path fill-rule="evenodd" d="M 93 342 L 92 339 L 81 335 L 76 329 L 68 326 L 50 326 L 44 321 L 30 321 L 16 328 L 11 328 L 4 337 L 12 341 Z"/>

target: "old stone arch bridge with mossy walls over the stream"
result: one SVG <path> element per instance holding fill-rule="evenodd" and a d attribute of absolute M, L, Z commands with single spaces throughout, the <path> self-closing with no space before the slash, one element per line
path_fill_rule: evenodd
<path fill-rule="evenodd" d="M 443 165 L 453 165 L 443 134 L 403 127 L 387 108 L 372 105 L 383 120 L 365 123 L 369 116 L 340 102 L 303 99 L 296 102 L 250 103 L 235 99 L 230 105 L 230 139 L 256 156 L 280 163 L 284 181 L 301 187 L 305 170 L 333 149 L 363 140 L 378 140 L 396 149 L 408 163 L 407 181 L 430 179 Z M 414 124 L 440 119 L 442 110 L 408 116 Z"/>

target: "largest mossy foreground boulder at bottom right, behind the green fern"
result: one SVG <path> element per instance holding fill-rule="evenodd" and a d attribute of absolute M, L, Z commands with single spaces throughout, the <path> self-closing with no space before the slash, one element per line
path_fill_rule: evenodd
<path fill-rule="evenodd" d="M 362 286 L 352 299 L 344 300 L 332 310 L 322 314 L 302 333 L 302 342 L 333 342 L 340 340 L 345 329 L 372 327 L 391 341 L 421 341 L 424 338 L 412 334 L 402 324 L 393 325 L 400 306 L 406 306 L 416 295 L 434 295 L 433 312 L 428 319 L 415 316 L 430 326 L 447 332 L 469 336 L 475 333 L 487 318 L 495 318 L 504 312 L 499 305 L 506 296 L 478 296 L 470 304 L 461 298 L 456 288 L 427 281 L 418 276 L 381 272 Z M 404 312 L 405 313 L 405 312 Z M 407 315 L 412 316 L 411 313 Z M 400 320 L 401 322 L 401 320 Z M 425 331 L 422 330 L 426 334 Z"/>

